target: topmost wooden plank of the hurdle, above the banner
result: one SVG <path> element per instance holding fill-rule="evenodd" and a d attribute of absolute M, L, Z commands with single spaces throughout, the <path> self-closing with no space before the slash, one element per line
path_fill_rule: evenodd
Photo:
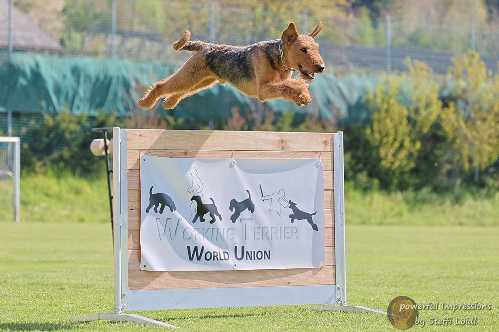
<path fill-rule="evenodd" d="M 126 129 L 128 149 L 323 151 L 332 152 L 332 133 Z"/>

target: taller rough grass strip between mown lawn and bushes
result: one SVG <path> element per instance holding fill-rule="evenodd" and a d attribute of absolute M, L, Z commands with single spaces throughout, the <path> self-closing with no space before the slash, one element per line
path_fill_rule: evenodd
<path fill-rule="evenodd" d="M 8 195 L 0 187 L 0 221 L 11 219 Z M 22 222 L 109 222 L 105 175 L 96 180 L 70 174 L 23 174 Z M 490 194 L 461 190 L 452 194 L 430 191 L 364 192 L 346 183 L 345 210 L 349 224 L 499 226 L 499 191 Z"/>

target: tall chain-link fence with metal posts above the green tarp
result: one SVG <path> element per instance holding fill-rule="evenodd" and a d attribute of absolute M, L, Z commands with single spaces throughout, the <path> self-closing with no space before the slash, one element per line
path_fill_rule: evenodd
<path fill-rule="evenodd" d="M 411 57 L 427 63 L 434 72 L 445 74 L 454 54 L 474 49 L 488 69 L 498 70 L 499 31 L 478 30 L 468 23 L 459 27 L 390 24 L 388 18 L 372 22 L 366 17 L 352 19 L 334 11 L 313 14 L 310 10 L 248 10 L 217 1 L 67 0 L 65 3 L 61 12 L 52 13 L 53 18 L 48 13 L 36 22 L 60 43 L 66 55 L 116 56 L 180 64 L 190 53 L 175 51 L 172 43 L 185 29 L 191 30 L 192 39 L 248 45 L 279 38 L 290 21 L 304 33 L 312 31 L 321 20 L 324 28 L 317 38 L 321 54 L 326 63 L 336 67 L 405 70 L 403 60 Z M 42 15 L 24 9 L 30 17 Z"/>

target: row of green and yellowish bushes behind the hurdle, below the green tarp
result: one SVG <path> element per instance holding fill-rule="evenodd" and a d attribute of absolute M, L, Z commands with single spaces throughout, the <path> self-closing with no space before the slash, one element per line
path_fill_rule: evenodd
<path fill-rule="evenodd" d="M 234 107 L 228 119 L 193 120 L 152 111 L 116 118 L 100 111 L 89 119 L 67 111 L 45 114 L 24 142 L 22 166 L 93 175 L 102 171 L 91 155 L 93 126 L 129 128 L 345 132 L 345 176 L 364 189 L 448 191 L 461 184 L 498 188 L 499 76 L 486 73 L 476 52 L 453 59 L 438 82 L 422 62 L 407 59 L 408 73 L 381 77 L 365 96 L 366 125 L 338 125 L 292 112 L 275 114 L 253 101 L 253 112 Z M 468 88 L 470 87 L 470 88 Z M 445 98 L 443 91 L 448 91 Z M 48 151 L 48 153 L 47 153 Z"/>

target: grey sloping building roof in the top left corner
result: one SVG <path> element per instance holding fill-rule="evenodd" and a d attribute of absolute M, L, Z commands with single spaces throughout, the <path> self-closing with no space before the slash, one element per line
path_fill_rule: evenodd
<path fill-rule="evenodd" d="M 8 0 L 0 0 L 0 49 L 8 48 Z M 62 47 L 12 6 L 14 51 L 62 52 Z"/>

